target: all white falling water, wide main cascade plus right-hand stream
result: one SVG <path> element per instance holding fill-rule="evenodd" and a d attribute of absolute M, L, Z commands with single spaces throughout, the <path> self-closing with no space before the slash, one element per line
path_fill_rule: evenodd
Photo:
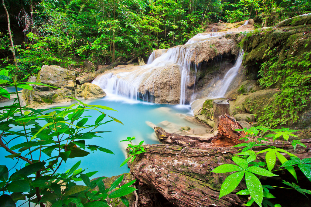
<path fill-rule="evenodd" d="M 139 66 L 134 71 L 112 71 L 105 73 L 102 76 L 97 77 L 92 83 L 99 85 L 107 94 L 121 95 L 132 100 L 142 99 L 143 101 L 154 101 L 154 96 L 152 91 L 147 90 L 146 85 L 150 85 L 150 82 L 156 79 L 159 74 L 151 73 L 151 71 L 157 68 L 169 68 L 173 65 L 178 65 L 180 70 L 180 104 L 184 105 L 186 103 L 188 95 L 187 94 L 187 84 L 190 80 L 190 69 L 195 67 L 195 72 L 197 70 L 197 65 L 192 64 L 190 59 L 196 57 L 195 54 L 195 43 L 208 41 L 210 39 L 215 39 L 218 36 L 227 34 L 227 32 L 214 32 L 208 34 L 197 34 L 193 36 L 185 45 L 178 45 L 173 48 L 167 49 L 166 53 L 163 53 L 156 58 L 156 52 L 153 51 L 148 58 L 147 65 Z M 242 58 L 238 58 L 236 67 L 239 68 L 241 65 Z M 238 70 L 238 69 L 237 69 Z M 220 87 L 220 89 L 227 90 L 233 77 L 231 73 L 235 73 L 235 70 L 230 69 L 226 74 L 225 78 L 221 84 L 226 84 L 226 86 Z M 193 80 L 192 80 L 193 81 Z M 153 90 L 154 90 L 153 85 Z M 217 86 L 218 88 L 218 86 Z M 215 90 L 211 94 L 219 94 L 222 96 L 224 92 L 221 90 Z"/>

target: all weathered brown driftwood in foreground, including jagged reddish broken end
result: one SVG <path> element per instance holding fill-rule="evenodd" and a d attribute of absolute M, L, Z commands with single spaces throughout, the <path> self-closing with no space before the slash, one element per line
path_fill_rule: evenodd
<path fill-rule="evenodd" d="M 141 154 L 133 163 L 128 162 L 128 166 L 131 168 L 132 175 L 140 183 L 156 189 L 175 206 L 242 206 L 246 200 L 241 200 L 242 197 L 239 198 L 234 193 L 246 188 L 244 182 L 241 182 L 233 193 L 218 201 L 221 184 L 230 173 L 211 173 L 219 165 L 234 164 L 232 156 L 238 152 L 239 148 L 231 147 L 243 142 L 239 138 L 245 136 L 244 132 L 234 131 L 237 128 L 242 127 L 227 114 L 219 117 L 219 134 L 210 138 L 181 136 L 167 133 L 161 127 L 155 127 L 159 140 L 167 144 L 144 145 L 146 153 Z M 308 147 L 297 145 L 294 149 L 290 142 L 284 144 L 273 142 L 259 146 L 255 150 L 264 150 L 270 146 L 278 148 L 283 146 L 284 150 L 301 159 L 310 158 L 311 139 L 301 140 L 301 142 Z M 289 157 L 287 154 L 283 155 Z M 261 160 L 264 157 L 265 154 L 259 155 Z M 278 160 L 277 166 L 280 166 Z M 275 171 L 275 173 L 280 173 L 280 176 L 269 179 L 279 182 L 291 176 L 289 173 L 284 174 L 283 171 Z M 302 176 L 302 179 L 306 178 Z"/>

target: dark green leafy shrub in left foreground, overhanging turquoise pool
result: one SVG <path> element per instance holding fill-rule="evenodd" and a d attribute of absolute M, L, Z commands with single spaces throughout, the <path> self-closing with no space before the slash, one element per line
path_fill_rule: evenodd
<path fill-rule="evenodd" d="M 33 83 L 17 82 L 16 79 L 16 76 L 13 79 L 8 77 L 8 71 L 0 71 L 1 95 L 11 98 L 11 94 L 17 94 L 12 105 L 0 108 L 0 146 L 8 153 L 5 157 L 24 162 L 21 168 L 16 167 L 16 172 L 12 174 L 7 166 L 0 165 L 1 206 L 14 207 L 18 200 L 41 206 L 47 202 L 53 206 L 109 206 L 105 201 L 107 197 L 122 197 L 121 200 L 128 206 L 123 196 L 136 190 L 130 187 L 135 181 L 117 187 L 123 180 L 121 176 L 110 188 L 105 189 L 102 181 L 105 177 L 91 181 L 89 177 L 97 172 L 85 173 L 85 170 L 79 168 L 81 161 L 65 173 L 58 172 L 61 164 L 68 159 L 90 154 L 86 150 L 100 150 L 113 154 L 106 148 L 87 144 L 86 140 L 100 137 L 98 133 L 109 132 L 94 131 L 97 127 L 103 127 L 111 121 L 121 123 L 101 111 L 114 109 L 84 104 L 77 99 L 77 104 L 53 108 L 52 112 L 47 111 L 50 109 L 22 107 L 17 87 L 32 90 L 29 84 Z M 16 92 L 8 93 L 4 89 L 7 86 L 14 86 Z M 86 124 L 88 117 L 83 116 L 86 110 L 94 110 L 100 114 L 94 124 Z M 107 119 L 109 120 L 106 121 Z M 42 160 L 42 153 L 48 159 Z M 83 181 L 85 186 L 77 185 L 75 181 Z M 98 187 L 99 191 L 93 190 L 95 187 Z"/>

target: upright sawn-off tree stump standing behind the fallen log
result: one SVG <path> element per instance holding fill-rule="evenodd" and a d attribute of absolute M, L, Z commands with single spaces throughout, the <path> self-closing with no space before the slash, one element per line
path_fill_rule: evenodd
<path fill-rule="evenodd" d="M 232 116 L 230 105 L 227 100 L 214 100 L 213 101 L 213 108 L 214 108 L 214 121 L 215 126 L 212 131 L 215 131 L 217 129 L 217 126 L 219 124 L 219 116 L 224 116 L 225 113 L 229 116 Z"/>

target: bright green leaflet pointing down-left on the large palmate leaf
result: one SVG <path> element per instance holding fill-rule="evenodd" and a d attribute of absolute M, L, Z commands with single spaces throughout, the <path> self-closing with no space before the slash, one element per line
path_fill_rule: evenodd
<path fill-rule="evenodd" d="M 241 182 L 243 176 L 244 176 L 244 171 L 239 171 L 237 173 L 233 173 L 233 174 L 229 175 L 221 185 L 219 199 L 222 196 L 227 195 L 227 194 L 231 193 L 232 191 L 234 191 L 234 189 Z"/>

